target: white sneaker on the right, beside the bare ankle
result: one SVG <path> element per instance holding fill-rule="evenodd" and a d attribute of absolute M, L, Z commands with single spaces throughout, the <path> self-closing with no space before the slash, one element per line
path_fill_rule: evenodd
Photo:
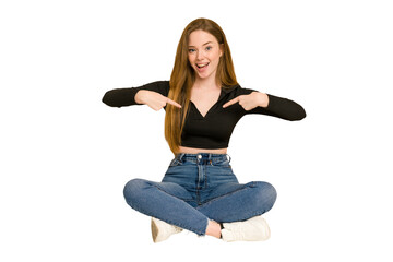
<path fill-rule="evenodd" d="M 263 241 L 270 238 L 270 228 L 262 216 L 254 216 L 243 222 L 223 223 L 223 240 L 231 241 Z"/>

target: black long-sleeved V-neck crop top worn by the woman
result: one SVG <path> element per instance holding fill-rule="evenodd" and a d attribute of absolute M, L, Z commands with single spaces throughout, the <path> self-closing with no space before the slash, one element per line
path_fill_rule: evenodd
<path fill-rule="evenodd" d="M 168 96 L 169 81 L 157 81 L 139 87 L 111 90 L 104 95 L 103 102 L 111 107 L 143 105 L 138 104 L 134 99 L 136 92 L 140 90 L 155 91 Z M 240 85 L 222 88 L 218 100 L 204 117 L 195 105 L 190 102 L 190 111 L 186 118 L 181 134 L 181 145 L 206 150 L 226 148 L 236 123 L 242 116 L 248 114 L 267 115 L 291 121 L 301 120 L 306 117 L 305 109 L 297 103 L 270 94 L 267 94 L 269 105 L 265 108 L 257 107 L 247 111 L 239 103 L 223 108 L 223 105 L 233 98 L 239 95 L 248 95 L 254 91 L 243 88 Z"/>

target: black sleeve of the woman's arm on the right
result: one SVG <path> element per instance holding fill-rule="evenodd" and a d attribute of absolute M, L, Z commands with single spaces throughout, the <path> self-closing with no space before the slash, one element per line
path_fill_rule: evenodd
<path fill-rule="evenodd" d="M 254 92 L 254 90 L 243 88 L 245 94 L 250 94 L 252 92 Z M 296 102 L 271 94 L 267 94 L 267 107 L 255 107 L 254 109 L 246 111 L 246 115 L 262 114 L 290 121 L 301 120 L 306 117 L 306 110 Z"/>

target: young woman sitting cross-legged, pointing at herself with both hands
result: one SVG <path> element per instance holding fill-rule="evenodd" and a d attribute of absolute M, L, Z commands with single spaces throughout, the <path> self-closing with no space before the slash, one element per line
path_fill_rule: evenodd
<path fill-rule="evenodd" d="M 152 216 L 154 242 L 182 229 L 225 241 L 270 237 L 261 215 L 272 209 L 276 191 L 267 182 L 238 182 L 229 139 L 245 115 L 300 120 L 306 112 L 293 100 L 241 87 L 215 22 L 198 19 L 184 28 L 170 81 L 111 90 L 103 102 L 166 110 L 165 139 L 175 158 L 160 182 L 133 179 L 124 187 L 127 203 Z"/>

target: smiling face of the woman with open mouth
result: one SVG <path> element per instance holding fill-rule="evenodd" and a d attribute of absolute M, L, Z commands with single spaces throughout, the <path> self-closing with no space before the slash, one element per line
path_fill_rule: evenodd
<path fill-rule="evenodd" d="M 189 37 L 188 58 L 196 78 L 215 78 L 219 57 L 223 55 L 217 39 L 204 31 L 194 31 Z"/>

